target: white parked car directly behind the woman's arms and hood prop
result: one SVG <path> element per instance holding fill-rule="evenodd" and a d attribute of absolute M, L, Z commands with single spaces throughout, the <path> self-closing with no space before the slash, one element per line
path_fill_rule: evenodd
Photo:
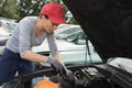
<path fill-rule="evenodd" d="M 79 25 L 59 25 L 55 31 L 55 37 L 58 52 L 66 65 L 102 62 L 90 41 L 88 41 L 88 46 L 86 46 L 85 33 Z M 40 46 L 33 46 L 32 51 L 37 54 L 50 55 L 47 40 Z M 36 69 L 42 69 L 43 66 L 48 65 L 38 63 Z"/>

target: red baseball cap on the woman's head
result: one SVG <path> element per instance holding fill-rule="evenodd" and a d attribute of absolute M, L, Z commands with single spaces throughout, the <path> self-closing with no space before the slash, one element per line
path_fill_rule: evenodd
<path fill-rule="evenodd" d="M 55 24 L 66 23 L 64 19 L 64 9 L 61 4 L 56 2 L 50 2 L 42 7 L 41 13 L 48 15 L 48 18 Z"/>

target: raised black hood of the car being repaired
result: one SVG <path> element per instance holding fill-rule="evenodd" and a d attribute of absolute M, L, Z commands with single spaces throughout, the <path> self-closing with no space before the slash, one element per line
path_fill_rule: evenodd
<path fill-rule="evenodd" d="M 131 0 L 63 0 L 103 62 L 132 57 Z"/>

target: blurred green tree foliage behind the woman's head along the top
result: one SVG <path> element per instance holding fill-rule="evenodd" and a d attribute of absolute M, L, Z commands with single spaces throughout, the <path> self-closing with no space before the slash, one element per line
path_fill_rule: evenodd
<path fill-rule="evenodd" d="M 62 4 L 67 12 L 67 7 L 62 0 L 0 0 L 0 15 L 9 19 L 21 20 L 28 15 L 38 15 L 41 8 L 47 2 Z M 68 23 L 77 24 L 74 18 L 65 16 Z"/>

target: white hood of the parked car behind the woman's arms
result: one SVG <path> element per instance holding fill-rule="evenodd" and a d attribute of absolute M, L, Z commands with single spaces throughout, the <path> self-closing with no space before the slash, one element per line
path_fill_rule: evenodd
<path fill-rule="evenodd" d="M 86 45 L 77 45 L 64 40 L 56 40 L 56 44 L 59 52 L 84 51 L 86 46 Z M 33 46 L 32 51 L 35 53 L 50 52 L 47 38 L 40 46 Z"/>

